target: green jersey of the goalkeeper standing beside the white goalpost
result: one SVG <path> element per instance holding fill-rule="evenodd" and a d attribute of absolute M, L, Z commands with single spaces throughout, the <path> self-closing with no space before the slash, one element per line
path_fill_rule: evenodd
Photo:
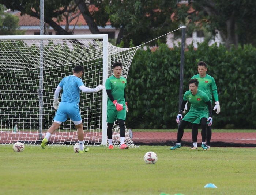
<path fill-rule="evenodd" d="M 106 90 L 111 90 L 111 94 L 115 100 L 119 104 L 123 104 L 123 108 L 125 108 L 125 99 L 124 99 L 124 89 L 126 86 L 126 78 L 120 77 L 116 78 L 114 75 L 109 77 L 106 80 L 105 87 Z M 108 97 L 108 109 L 116 110 L 116 106 L 113 104 L 113 102 Z"/>

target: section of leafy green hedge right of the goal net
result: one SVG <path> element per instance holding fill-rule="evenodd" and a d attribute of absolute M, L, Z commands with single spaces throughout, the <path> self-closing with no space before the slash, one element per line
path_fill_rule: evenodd
<path fill-rule="evenodd" d="M 180 47 L 165 44 L 154 52 L 138 50 L 127 77 L 129 112 L 126 124 L 132 128 L 177 128 L 180 80 Z M 184 92 L 197 73 L 197 62 L 208 65 L 215 78 L 221 113 L 214 114 L 214 128 L 253 129 L 256 120 L 256 48 L 251 45 L 227 49 L 206 43 L 185 52 Z"/>

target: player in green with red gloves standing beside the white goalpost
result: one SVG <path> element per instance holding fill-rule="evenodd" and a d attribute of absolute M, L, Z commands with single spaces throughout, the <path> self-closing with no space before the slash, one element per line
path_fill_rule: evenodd
<path fill-rule="evenodd" d="M 126 79 L 121 76 L 122 63 L 115 62 L 113 64 L 114 74 L 106 80 L 106 91 L 108 94 L 107 102 L 107 136 L 109 149 L 113 149 L 112 135 L 113 125 L 117 120 L 120 128 L 120 149 L 128 149 L 124 144 L 125 141 L 125 118 L 128 112 L 127 102 L 125 101 Z"/>

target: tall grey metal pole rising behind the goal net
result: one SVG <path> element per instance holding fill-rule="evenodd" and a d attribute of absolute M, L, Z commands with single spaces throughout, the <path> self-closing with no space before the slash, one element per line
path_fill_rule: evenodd
<path fill-rule="evenodd" d="M 40 0 L 40 35 L 44 35 L 44 0 Z M 39 139 L 42 137 L 42 128 L 43 128 L 43 110 L 44 110 L 44 101 L 43 101 L 43 89 L 44 89 L 44 41 L 40 40 L 40 73 L 39 73 Z"/>

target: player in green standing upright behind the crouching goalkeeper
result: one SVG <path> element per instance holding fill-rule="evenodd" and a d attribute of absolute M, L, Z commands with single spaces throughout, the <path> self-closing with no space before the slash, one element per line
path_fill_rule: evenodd
<path fill-rule="evenodd" d="M 198 80 L 199 82 L 198 89 L 206 93 L 211 103 L 212 103 L 212 95 L 213 95 L 215 100 L 215 106 L 213 110 L 216 110 L 216 113 L 219 114 L 219 112 L 221 112 L 221 108 L 219 106 L 219 98 L 218 98 L 217 86 L 216 86 L 215 80 L 213 77 L 206 74 L 207 65 L 205 62 L 200 61 L 197 63 L 197 66 L 198 66 L 197 71 L 199 74 L 194 75 L 191 79 Z M 199 120 L 193 122 L 193 126 L 192 126 L 193 147 L 197 147 L 198 127 L 199 127 Z M 208 148 L 210 148 L 211 135 L 212 135 L 211 126 L 207 126 L 206 145 Z"/>

